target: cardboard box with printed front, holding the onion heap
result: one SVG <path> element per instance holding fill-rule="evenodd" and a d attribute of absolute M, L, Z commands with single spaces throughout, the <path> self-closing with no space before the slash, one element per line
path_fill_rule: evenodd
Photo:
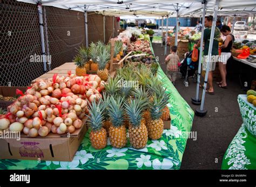
<path fill-rule="evenodd" d="M 72 161 L 87 131 L 83 126 L 70 134 L 49 134 L 46 137 L 29 138 L 21 134 L 21 139 L 0 139 L 0 159 Z"/>

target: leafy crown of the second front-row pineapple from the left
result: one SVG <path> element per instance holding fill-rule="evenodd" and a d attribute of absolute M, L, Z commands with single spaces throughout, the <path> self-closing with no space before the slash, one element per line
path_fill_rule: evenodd
<path fill-rule="evenodd" d="M 108 109 L 109 116 L 114 127 L 124 125 L 124 98 L 123 97 L 110 97 Z"/>

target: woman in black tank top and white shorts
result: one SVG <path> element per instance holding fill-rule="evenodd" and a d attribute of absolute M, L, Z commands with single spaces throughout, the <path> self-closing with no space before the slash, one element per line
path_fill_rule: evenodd
<path fill-rule="evenodd" d="M 221 75 L 221 81 L 217 82 L 220 88 L 227 88 L 226 76 L 227 76 L 227 69 L 226 64 L 227 60 L 231 57 L 231 48 L 233 46 L 234 36 L 231 34 L 230 27 L 227 25 L 223 25 L 220 30 L 223 35 L 225 35 L 226 39 L 224 44 L 220 46 L 221 54 L 219 56 L 219 70 Z"/>

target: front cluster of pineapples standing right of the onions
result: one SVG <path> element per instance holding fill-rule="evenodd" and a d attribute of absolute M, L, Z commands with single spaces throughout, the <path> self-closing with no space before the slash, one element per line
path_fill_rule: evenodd
<path fill-rule="evenodd" d="M 157 70 L 145 64 L 127 64 L 117 71 L 116 77 L 109 77 L 103 98 L 98 103 L 89 104 L 88 123 L 92 147 L 106 147 L 107 136 L 113 147 L 125 147 L 126 128 L 130 145 L 136 149 L 144 148 L 148 138 L 161 138 L 163 120 L 170 118 L 170 110 L 166 106 L 170 95 L 156 75 Z M 138 85 L 120 86 L 124 81 L 135 81 Z"/>

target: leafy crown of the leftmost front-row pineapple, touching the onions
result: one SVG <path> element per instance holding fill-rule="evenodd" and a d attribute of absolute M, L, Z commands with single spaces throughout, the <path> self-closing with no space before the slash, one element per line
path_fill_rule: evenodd
<path fill-rule="evenodd" d="M 98 103 L 93 100 L 92 103 L 88 102 L 88 105 L 89 115 L 86 115 L 88 117 L 87 122 L 90 125 L 92 131 L 99 131 L 103 127 L 104 120 L 104 105 L 102 104 L 102 100 L 100 100 Z"/>

